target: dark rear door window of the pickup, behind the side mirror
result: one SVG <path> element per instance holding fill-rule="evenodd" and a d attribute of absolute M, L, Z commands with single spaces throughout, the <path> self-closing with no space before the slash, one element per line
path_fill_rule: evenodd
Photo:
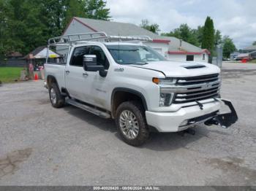
<path fill-rule="evenodd" d="M 83 55 L 88 55 L 89 50 L 90 50 L 90 47 L 76 47 L 73 52 L 70 65 L 83 66 Z"/>

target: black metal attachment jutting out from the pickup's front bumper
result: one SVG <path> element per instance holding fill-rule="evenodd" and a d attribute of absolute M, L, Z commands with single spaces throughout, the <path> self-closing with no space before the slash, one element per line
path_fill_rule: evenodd
<path fill-rule="evenodd" d="M 230 112 L 224 114 L 218 114 L 216 117 L 212 118 L 205 122 L 206 125 L 220 125 L 222 128 L 229 128 L 233 125 L 237 120 L 238 116 L 236 114 L 236 110 L 233 107 L 231 101 L 227 101 L 225 99 L 221 99 L 221 101 L 229 107 Z"/>

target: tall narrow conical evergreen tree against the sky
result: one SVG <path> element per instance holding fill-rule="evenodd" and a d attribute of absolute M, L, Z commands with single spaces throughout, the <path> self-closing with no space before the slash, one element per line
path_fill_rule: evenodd
<path fill-rule="evenodd" d="M 210 52 L 214 50 L 214 21 L 211 17 L 206 17 L 206 22 L 203 27 L 202 48 Z"/>

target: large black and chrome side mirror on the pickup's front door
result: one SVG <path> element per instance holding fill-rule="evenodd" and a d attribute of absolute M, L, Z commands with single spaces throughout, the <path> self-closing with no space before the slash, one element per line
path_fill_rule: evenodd
<path fill-rule="evenodd" d="M 83 69 L 85 71 L 104 71 L 104 66 L 97 65 L 96 55 L 83 55 Z"/>

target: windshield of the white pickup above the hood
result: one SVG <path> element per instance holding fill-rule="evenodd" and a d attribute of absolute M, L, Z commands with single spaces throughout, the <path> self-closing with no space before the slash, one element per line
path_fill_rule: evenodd
<path fill-rule="evenodd" d="M 146 64 L 152 61 L 165 61 L 165 57 L 160 55 L 151 47 L 135 45 L 107 45 L 106 46 L 119 64 Z"/>

